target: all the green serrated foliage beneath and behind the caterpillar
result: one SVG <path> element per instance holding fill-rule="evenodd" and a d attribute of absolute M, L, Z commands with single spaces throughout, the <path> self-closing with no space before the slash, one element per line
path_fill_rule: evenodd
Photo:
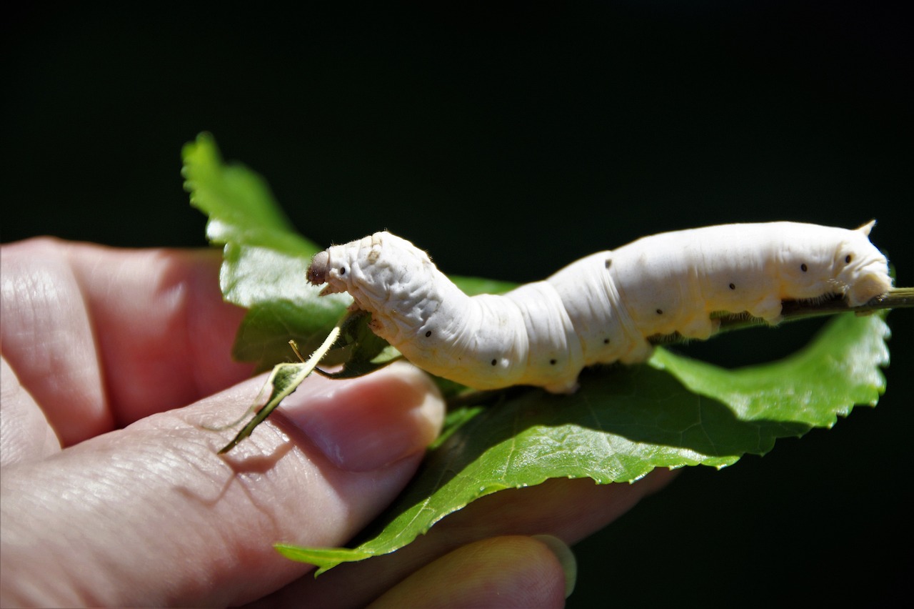
<path fill-rule="evenodd" d="M 185 164 L 192 201 L 210 215 L 207 235 L 226 244 L 223 293 L 249 307 L 235 354 L 269 368 L 288 357 L 290 338 L 304 343 L 303 352 L 313 350 L 302 337 L 316 346 L 346 305 L 318 297 L 305 283 L 316 247 L 268 209 L 275 204 L 260 178 L 222 165 L 208 136 L 187 144 Z M 460 284 L 470 293 L 510 287 Z M 342 327 L 352 344 L 337 351 L 355 349 L 356 364 L 370 367 L 389 357 L 364 319 Z M 277 544 L 277 550 L 323 572 L 397 550 L 441 518 L 504 488 L 550 477 L 632 482 L 656 467 L 723 467 L 743 454 L 765 454 L 778 438 L 831 427 L 855 404 L 875 405 L 885 390 L 880 367 L 888 362 L 887 337 L 882 316 L 845 314 L 808 347 L 771 364 L 720 369 L 658 348 L 645 365 L 585 370 L 580 390 L 570 396 L 520 388 L 463 394 L 420 472 L 355 549 Z M 291 392 L 303 376 L 275 379 L 274 397 Z"/>

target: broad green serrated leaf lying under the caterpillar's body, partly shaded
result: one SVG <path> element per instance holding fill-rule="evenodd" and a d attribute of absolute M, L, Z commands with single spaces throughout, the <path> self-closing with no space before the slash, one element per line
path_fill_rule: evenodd
<path fill-rule="evenodd" d="M 468 407 L 431 449 L 407 491 L 355 549 L 277 546 L 320 572 L 397 550 L 448 514 L 504 488 L 551 477 L 632 482 L 655 467 L 736 463 L 778 438 L 830 427 L 885 390 L 880 315 L 841 315 L 780 362 L 720 369 L 658 348 L 649 365 L 589 370 L 580 390 L 515 390 Z"/>

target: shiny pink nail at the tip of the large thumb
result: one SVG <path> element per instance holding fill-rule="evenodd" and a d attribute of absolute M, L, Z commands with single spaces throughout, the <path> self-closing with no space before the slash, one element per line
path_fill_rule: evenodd
<path fill-rule="evenodd" d="M 334 465 L 365 472 L 424 450 L 444 403 L 427 374 L 397 362 L 358 379 L 306 379 L 282 412 Z"/>

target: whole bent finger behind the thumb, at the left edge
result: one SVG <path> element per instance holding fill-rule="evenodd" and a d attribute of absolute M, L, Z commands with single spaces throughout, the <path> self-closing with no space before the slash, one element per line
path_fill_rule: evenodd
<path fill-rule="evenodd" d="M 217 251 L 5 245 L 3 353 L 65 445 L 250 375 L 231 361 L 243 311 L 222 301 Z"/>

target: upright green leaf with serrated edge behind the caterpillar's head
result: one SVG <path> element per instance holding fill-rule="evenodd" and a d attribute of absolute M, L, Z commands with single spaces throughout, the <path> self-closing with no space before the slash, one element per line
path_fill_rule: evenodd
<path fill-rule="evenodd" d="M 232 355 L 266 370 L 291 360 L 290 339 L 313 351 L 352 302 L 348 294 L 319 296 L 320 288 L 305 281 L 311 257 L 323 248 L 292 229 L 263 178 L 222 161 L 211 135 L 185 144 L 182 155 L 191 204 L 209 217 L 207 238 L 225 245 L 222 294 L 248 309 Z"/>

